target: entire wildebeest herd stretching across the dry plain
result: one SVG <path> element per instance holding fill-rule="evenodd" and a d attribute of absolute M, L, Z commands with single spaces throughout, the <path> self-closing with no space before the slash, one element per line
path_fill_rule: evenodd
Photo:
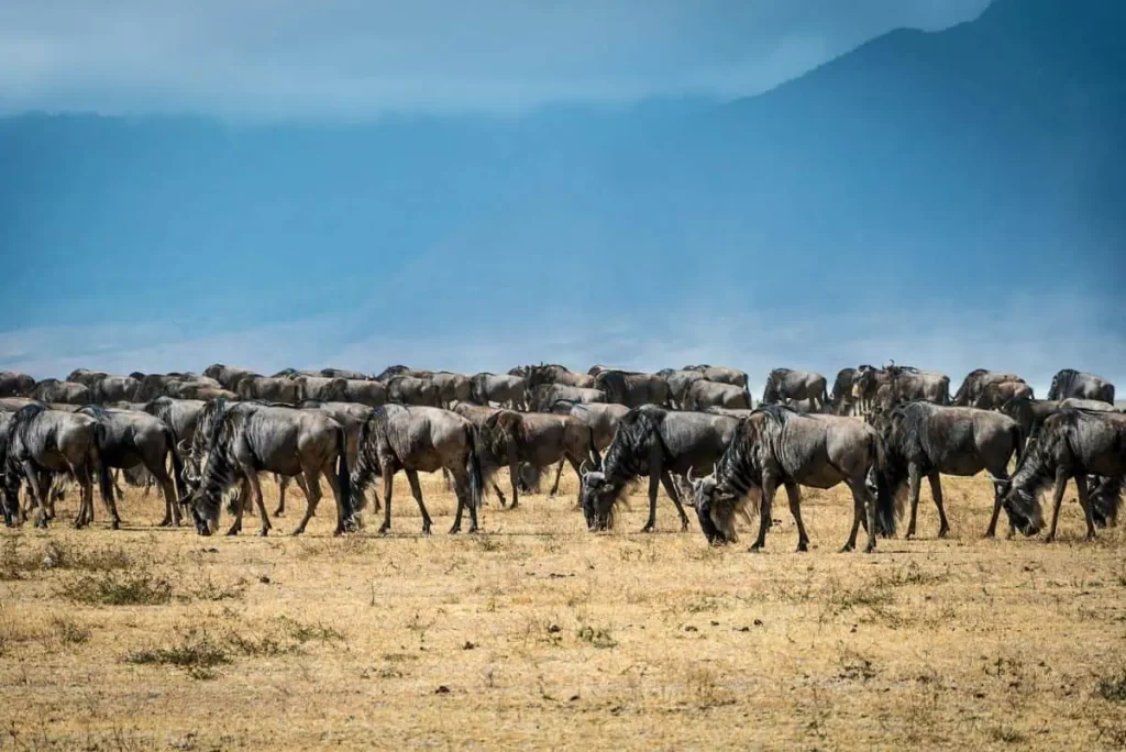
<path fill-rule="evenodd" d="M 190 516 L 197 531 L 220 528 L 224 496 L 242 529 L 253 504 L 259 532 L 271 529 L 261 473 L 278 481 L 274 517 L 285 513 L 294 482 L 306 510 L 303 532 L 322 496 L 336 502 L 336 532 L 356 530 L 367 489 L 382 481 L 375 511 L 381 532 L 391 528 L 393 480 L 406 476 L 422 531 L 431 518 L 419 473 L 444 472 L 457 498 L 453 529 L 479 526 L 477 510 L 492 489 L 504 507 L 554 468 L 551 494 L 564 465 L 580 478 L 578 507 L 591 530 L 610 529 L 625 487 L 649 478 L 649 519 L 656 526 L 663 487 L 682 529 L 685 505 L 695 508 L 712 544 L 736 540 L 735 517 L 758 516 L 752 549 L 771 526 L 783 489 L 797 527 L 797 548 L 808 536 L 801 486 L 848 487 L 854 500 L 852 549 L 863 527 L 866 550 L 878 536 L 917 530 L 923 478 L 939 517 L 950 529 L 941 476 L 989 474 L 993 510 L 1012 535 L 1044 527 L 1040 495 L 1054 486 L 1047 539 L 1056 534 L 1065 485 L 1075 483 L 1093 537 L 1115 525 L 1126 482 L 1126 414 L 1114 406 L 1115 387 L 1091 374 L 1061 370 L 1046 400 L 1017 374 L 974 370 L 950 395 L 944 374 L 892 362 L 861 365 L 828 379 L 778 368 L 767 375 L 762 399 L 751 397 L 748 376 L 707 365 L 654 374 L 595 366 L 579 373 L 560 365 L 529 365 L 507 374 L 463 375 L 392 366 L 376 376 L 324 368 L 285 369 L 262 376 L 222 364 L 203 374 L 113 375 L 78 369 L 65 381 L 36 382 L 0 373 L 0 472 L 7 525 L 29 516 L 36 526 L 55 518 L 55 502 L 79 489 L 75 527 L 95 519 L 93 484 L 118 528 L 119 483 L 155 486 L 163 494 L 162 526 Z M 1010 466 L 1016 460 L 1016 469 Z M 510 498 L 493 476 L 508 468 Z M 23 494 L 23 499 L 21 499 Z M 910 503 L 909 503 L 910 502 Z"/>

